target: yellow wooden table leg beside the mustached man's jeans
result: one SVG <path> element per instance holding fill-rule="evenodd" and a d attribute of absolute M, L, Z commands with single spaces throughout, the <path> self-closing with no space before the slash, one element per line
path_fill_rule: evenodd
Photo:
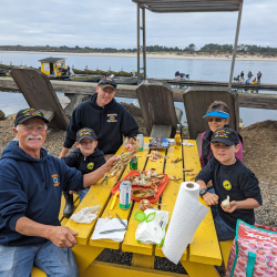
<path fill-rule="evenodd" d="M 75 245 L 72 248 L 80 274 L 82 274 L 91 263 L 104 250 L 101 247 L 89 245 Z"/>

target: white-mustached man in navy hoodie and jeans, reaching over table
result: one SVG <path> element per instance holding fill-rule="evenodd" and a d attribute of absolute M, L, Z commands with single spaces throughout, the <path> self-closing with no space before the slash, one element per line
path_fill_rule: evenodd
<path fill-rule="evenodd" d="M 19 111 L 12 129 L 19 142 L 0 160 L 0 276 L 31 276 L 33 265 L 48 276 L 79 276 L 70 248 L 78 234 L 58 219 L 61 194 L 95 184 L 117 160 L 82 175 L 42 148 L 45 123 L 38 110 Z"/>

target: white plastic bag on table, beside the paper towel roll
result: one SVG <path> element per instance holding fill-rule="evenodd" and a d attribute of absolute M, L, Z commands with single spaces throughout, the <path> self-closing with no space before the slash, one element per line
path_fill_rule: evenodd
<path fill-rule="evenodd" d="M 136 228 L 135 239 L 143 244 L 163 245 L 170 213 L 147 208 L 144 211 L 144 220 L 141 222 Z"/>

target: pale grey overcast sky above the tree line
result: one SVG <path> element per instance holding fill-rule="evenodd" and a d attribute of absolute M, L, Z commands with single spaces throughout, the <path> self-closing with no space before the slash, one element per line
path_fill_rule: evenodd
<path fill-rule="evenodd" d="M 136 48 L 131 0 L 0 0 L 0 45 Z M 277 47 L 277 0 L 245 0 L 238 44 Z M 238 12 L 153 13 L 146 45 L 233 44 Z"/>

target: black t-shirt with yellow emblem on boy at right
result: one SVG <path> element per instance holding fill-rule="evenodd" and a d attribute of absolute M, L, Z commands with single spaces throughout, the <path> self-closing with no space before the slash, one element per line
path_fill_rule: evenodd
<path fill-rule="evenodd" d="M 219 214 L 224 222 L 232 228 L 236 228 L 237 219 L 248 224 L 255 223 L 254 208 L 235 209 L 233 213 L 225 213 L 220 203 L 229 195 L 229 201 L 256 199 L 263 205 L 258 179 L 239 160 L 233 165 L 223 165 L 215 157 L 211 158 L 207 165 L 199 172 L 195 181 L 202 179 L 206 184 L 213 181 L 215 193 L 218 195 Z"/>

